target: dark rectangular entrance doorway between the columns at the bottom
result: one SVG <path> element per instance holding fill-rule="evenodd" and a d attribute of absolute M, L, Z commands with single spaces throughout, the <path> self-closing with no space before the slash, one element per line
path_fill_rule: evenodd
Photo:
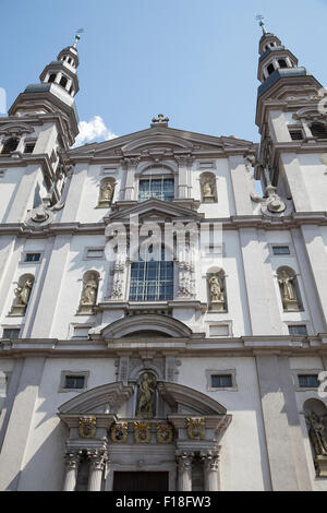
<path fill-rule="evenodd" d="M 113 491 L 169 491 L 168 472 L 116 472 Z"/>

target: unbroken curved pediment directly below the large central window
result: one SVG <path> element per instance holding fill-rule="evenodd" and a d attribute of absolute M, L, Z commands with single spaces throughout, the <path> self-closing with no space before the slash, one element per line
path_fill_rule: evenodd
<path fill-rule="evenodd" d="M 168 315 L 156 313 L 143 313 L 131 315 L 112 322 L 101 331 L 105 339 L 123 338 L 125 336 L 138 336 L 140 332 L 154 332 L 154 337 L 161 336 L 174 338 L 189 338 L 192 331 L 181 321 Z"/>

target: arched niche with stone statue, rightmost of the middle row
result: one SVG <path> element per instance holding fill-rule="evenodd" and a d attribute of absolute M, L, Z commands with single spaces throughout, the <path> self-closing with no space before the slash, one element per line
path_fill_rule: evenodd
<path fill-rule="evenodd" d="M 296 273 L 290 267 L 279 267 L 277 271 L 278 285 L 284 312 L 303 310 Z"/>

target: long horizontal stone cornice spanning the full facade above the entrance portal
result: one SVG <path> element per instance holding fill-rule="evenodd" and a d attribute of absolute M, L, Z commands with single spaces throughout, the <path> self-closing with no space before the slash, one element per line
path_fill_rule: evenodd
<path fill-rule="evenodd" d="M 1 357 L 24 358 L 35 357 L 78 357 L 104 358 L 118 357 L 123 354 L 152 356 L 180 355 L 197 356 L 244 356 L 284 355 L 284 356 L 320 356 L 327 355 L 327 333 L 316 336 L 263 335 L 230 338 L 191 338 L 154 337 L 150 342 L 144 338 L 117 338 L 107 341 L 89 339 L 2 339 L 0 341 Z"/>

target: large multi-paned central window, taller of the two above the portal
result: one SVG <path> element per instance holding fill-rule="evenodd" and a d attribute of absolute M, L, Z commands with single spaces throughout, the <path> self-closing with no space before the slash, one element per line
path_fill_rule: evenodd
<path fill-rule="evenodd" d="M 149 248 L 152 253 L 152 247 Z M 161 260 L 143 260 L 131 265 L 131 301 L 167 301 L 173 299 L 173 262 L 165 260 L 166 251 L 161 249 Z"/>

